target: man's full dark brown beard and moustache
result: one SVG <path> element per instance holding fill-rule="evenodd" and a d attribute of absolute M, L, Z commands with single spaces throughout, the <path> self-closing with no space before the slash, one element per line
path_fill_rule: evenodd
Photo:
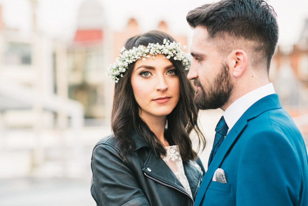
<path fill-rule="evenodd" d="M 199 86 L 201 90 L 195 93 L 194 102 L 198 109 L 217 109 L 221 108 L 229 100 L 233 84 L 230 80 L 229 68 L 226 64 L 222 65 L 221 73 L 219 73 L 213 82 L 208 85 L 207 91 L 202 87 L 200 79 L 194 80 L 194 85 Z"/>

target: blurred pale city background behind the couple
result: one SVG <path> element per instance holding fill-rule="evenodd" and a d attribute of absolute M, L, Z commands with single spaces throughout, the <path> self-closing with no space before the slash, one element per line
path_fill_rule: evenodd
<path fill-rule="evenodd" d="M 95 205 L 91 153 L 111 133 L 107 66 L 152 29 L 189 51 L 186 14 L 211 2 L 0 0 L 0 205 Z M 270 81 L 307 145 L 308 1 L 270 4 L 280 27 Z M 200 113 L 205 165 L 222 113 Z"/>

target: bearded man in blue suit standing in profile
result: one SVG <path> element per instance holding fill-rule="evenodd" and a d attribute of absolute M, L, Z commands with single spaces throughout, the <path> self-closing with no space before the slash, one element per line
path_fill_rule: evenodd
<path fill-rule="evenodd" d="M 276 13 L 261 0 L 221 0 L 186 17 L 188 79 L 200 109 L 223 109 L 195 205 L 308 205 L 307 150 L 269 83 Z"/>

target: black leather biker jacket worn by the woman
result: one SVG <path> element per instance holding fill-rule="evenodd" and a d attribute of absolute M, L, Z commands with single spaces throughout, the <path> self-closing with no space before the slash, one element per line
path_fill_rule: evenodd
<path fill-rule="evenodd" d="M 204 167 L 196 161 L 183 162 L 193 197 L 164 162 L 136 133 L 136 149 L 123 160 L 112 135 L 94 147 L 91 161 L 91 195 L 97 205 L 193 205 Z"/>

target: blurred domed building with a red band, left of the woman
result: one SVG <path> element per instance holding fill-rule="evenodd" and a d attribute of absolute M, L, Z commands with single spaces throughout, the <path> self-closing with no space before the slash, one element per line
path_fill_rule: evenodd
<path fill-rule="evenodd" d="M 87 0 L 79 9 L 77 29 L 67 48 L 68 95 L 81 102 L 86 118 L 108 117 L 111 84 L 105 73 L 112 43 L 109 40 L 103 7 Z"/>

